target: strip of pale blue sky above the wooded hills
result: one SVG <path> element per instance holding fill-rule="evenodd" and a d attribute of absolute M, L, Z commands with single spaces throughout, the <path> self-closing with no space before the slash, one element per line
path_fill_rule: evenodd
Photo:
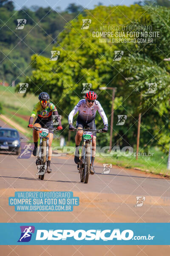
<path fill-rule="evenodd" d="M 94 5 L 97 5 L 99 2 L 103 3 L 105 6 L 109 5 L 126 5 L 130 6 L 135 0 L 13 0 L 15 9 L 21 9 L 22 6 L 31 7 L 33 5 L 47 7 L 56 9 L 60 7 L 61 10 L 64 10 L 70 3 L 76 3 L 77 5 L 82 5 L 87 9 L 93 9 Z M 137 2 L 137 0 L 136 0 Z"/>

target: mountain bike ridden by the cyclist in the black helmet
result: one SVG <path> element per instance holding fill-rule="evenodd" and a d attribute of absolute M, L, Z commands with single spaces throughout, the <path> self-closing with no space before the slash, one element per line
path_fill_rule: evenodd
<path fill-rule="evenodd" d="M 48 161 L 48 145 L 49 138 L 47 137 L 49 130 L 48 128 L 33 126 L 33 130 L 39 131 L 40 134 L 40 147 L 36 157 L 36 166 L 38 169 L 38 178 L 43 180 L 44 175 L 47 172 L 47 161 Z M 58 131 L 57 128 L 50 128 L 50 130 Z"/>

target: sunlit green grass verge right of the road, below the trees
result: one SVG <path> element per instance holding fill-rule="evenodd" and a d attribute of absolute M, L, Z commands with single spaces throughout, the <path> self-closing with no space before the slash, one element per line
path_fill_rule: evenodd
<path fill-rule="evenodd" d="M 140 149 L 139 149 L 140 152 Z M 136 160 L 136 156 L 131 155 L 129 157 L 96 157 L 96 161 L 99 163 L 111 163 L 112 165 L 140 169 L 153 174 L 161 174 L 163 176 L 170 175 L 170 170 L 167 169 L 167 155 L 159 150 L 159 148 L 150 148 L 150 153 L 153 155 L 142 155 Z"/>

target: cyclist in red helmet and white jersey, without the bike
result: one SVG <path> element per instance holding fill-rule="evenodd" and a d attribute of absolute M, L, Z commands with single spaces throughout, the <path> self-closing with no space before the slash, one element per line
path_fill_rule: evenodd
<path fill-rule="evenodd" d="M 68 116 L 68 123 L 69 123 L 69 130 L 74 130 L 73 126 L 73 116 L 79 111 L 78 117 L 77 117 L 77 124 L 76 128 L 83 129 L 85 126 L 89 127 L 92 130 L 96 130 L 95 125 L 95 116 L 96 111 L 99 112 L 100 116 L 103 119 L 104 128 L 102 131 L 107 132 L 108 131 L 108 119 L 105 115 L 105 112 L 100 105 L 99 101 L 96 100 L 97 95 L 94 91 L 89 91 L 85 94 L 85 99 L 81 99 L 77 105 L 74 107 L 74 109 L 70 112 Z M 75 137 L 75 143 L 76 143 L 76 151 L 74 156 L 74 162 L 76 164 L 79 163 L 79 144 L 82 140 L 82 131 L 78 131 Z M 91 174 L 94 174 L 94 157 L 96 154 L 96 133 L 93 132 L 93 140 L 92 140 L 92 159 L 91 159 Z"/>

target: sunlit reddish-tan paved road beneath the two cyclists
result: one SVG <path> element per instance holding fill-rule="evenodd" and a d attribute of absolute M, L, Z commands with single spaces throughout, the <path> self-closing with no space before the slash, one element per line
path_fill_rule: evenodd
<path fill-rule="evenodd" d="M 0 124 L 1 125 L 1 124 Z M 23 136 L 23 135 L 22 135 Z M 113 167 L 102 174 L 96 163 L 88 184 L 79 182 L 73 157 L 53 157 L 52 173 L 37 179 L 35 158 L 19 159 L 0 153 L 1 222 L 169 222 L 170 180 L 156 175 Z M 15 212 L 8 197 L 15 191 L 73 191 L 80 204 L 73 212 Z M 142 207 L 134 207 L 136 196 L 145 196 Z M 128 250 L 127 250 L 128 248 Z M 3 256 L 20 255 L 169 255 L 169 246 L 1 246 Z M 48 253 L 47 251 L 48 250 Z M 89 254 L 91 250 L 91 254 Z M 36 252 L 36 254 L 35 254 Z M 10 254 L 11 253 L 11 254 Z"/>

